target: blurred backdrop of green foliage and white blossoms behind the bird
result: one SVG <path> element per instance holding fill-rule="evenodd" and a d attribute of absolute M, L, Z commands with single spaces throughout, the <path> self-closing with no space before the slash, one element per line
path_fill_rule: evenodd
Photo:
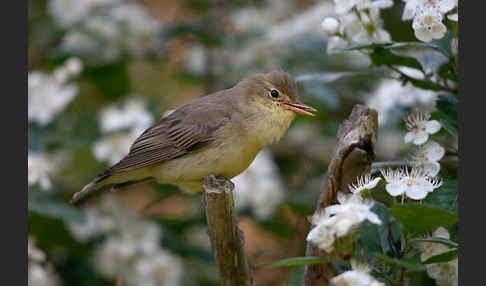
<path fill-rule="evenodd" d="M 68 201 L 165 112 L 273 69 L 319 112 L 297 117 L 233 179 L 235 200 L 257 284 L 300 285 L 302 267 L 266 265 L 305 254 L 339 124 L 355 104 L 377 109 L 377 161 L 396 160 L 403 115 L 435 100 L 359 52 L 328 53 L 321 22 L 333 5 L 29 0 L 29 285 L 219 285 L 199 195 L 154 183 Z M 380 24 L 414 40 L 402 11 L 395 1 Z"/>

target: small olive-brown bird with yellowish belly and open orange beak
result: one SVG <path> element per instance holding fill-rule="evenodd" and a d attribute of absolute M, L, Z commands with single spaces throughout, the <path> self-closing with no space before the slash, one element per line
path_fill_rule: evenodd
<path fill-rule="evenodd" d="M 166 113 L 135 139 L 125 157 L 76 192 L 71 203 L 96 190 L 152 180 L 200 193 L 205 176 L 237 176 L 263 147 L 282 137 L 296 114 L 313 112 L 301 102 L 288 72 L 248 76 Z"/>

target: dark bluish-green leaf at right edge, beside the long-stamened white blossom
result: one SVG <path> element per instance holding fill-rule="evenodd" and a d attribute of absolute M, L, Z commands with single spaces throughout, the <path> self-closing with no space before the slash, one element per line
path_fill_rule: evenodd
<path fill-rule="evenodd" d="M 425 198 L 424 203 L 457 213 L 457 180 L 451 179 L 445 181 L 442 186 L 437 188 Z"/>

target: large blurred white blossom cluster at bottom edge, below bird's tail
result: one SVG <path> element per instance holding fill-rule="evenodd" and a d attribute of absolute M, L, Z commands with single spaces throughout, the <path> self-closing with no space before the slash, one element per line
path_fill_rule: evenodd
<path fill-rule="evenodd" d="M 120 277 L 124 285 L 179 285 L 182 263 L 161 247 L 159 225 L 136 217 L 112 196 L 102 198 L 97 216 L 105 218 L 105 223 L 92 230 L 107 236 L 95 248 L 93 261 L 98 273 L 108 279 Z M 108 225 L 107 217 L 111 219 Z"/>

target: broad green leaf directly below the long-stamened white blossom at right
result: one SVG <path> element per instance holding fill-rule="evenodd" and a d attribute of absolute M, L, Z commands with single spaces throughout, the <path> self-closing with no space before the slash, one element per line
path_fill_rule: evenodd
<path fill-rule="evenodd" d="M 457 215 L 442 208 L 416 203 L 395 205 L 392 216 L 412 235 L 423 234 L 439 226 L 449 228 L 457 222 Z"/>

